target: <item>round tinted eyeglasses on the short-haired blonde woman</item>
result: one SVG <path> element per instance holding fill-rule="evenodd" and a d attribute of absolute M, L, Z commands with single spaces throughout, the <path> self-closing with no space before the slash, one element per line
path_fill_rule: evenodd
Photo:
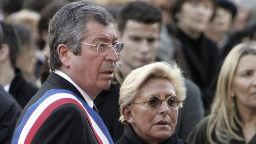
<path fill-rule="evenodd" d="M 162 105 L 162 101 L 165 101 L 169 108 L 177 107 L 182 101 L 180 101 L 176 96 L 171 95 L 165 99 L 161 99 L 158 95 L 153 95 L 152 97 L 148 98 L 147 101 L 136 102 L 132 104 L 148 104 L 149 107 L 152 108 L 159 108 Z"/>

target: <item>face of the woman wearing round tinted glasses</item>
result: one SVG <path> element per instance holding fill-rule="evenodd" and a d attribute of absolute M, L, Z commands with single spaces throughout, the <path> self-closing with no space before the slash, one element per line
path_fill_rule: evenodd
<path fill-rule="evenodd" d="M 134 103 L 148 100 L 152 95 L 165 99 L 176 95 L 174 85 L 164 78 L 155 78 L 140 88 Z M 130 119 L 135 132 L 147 142 L 162 142 L 170 137 L 177 123 L 178 107 L 169 108 L 165 101 L 159 108 L 151 108 L 148 104 L 133 104 L 130 108 Z"/>

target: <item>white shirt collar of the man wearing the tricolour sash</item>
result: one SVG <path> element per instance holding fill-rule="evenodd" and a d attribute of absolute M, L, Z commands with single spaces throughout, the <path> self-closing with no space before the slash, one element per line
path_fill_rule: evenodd
<path fill-rule="evenodd" d="M 93 107 L 94 106 L 94 103 L 93 101 L 91 100 L 91 97 L 89 97 L 89 95 L 84 91 L 82 90 L 80 87 L 78 87 L 78 85 L 75 84 L 75 82 L 73 82 L 73 80 L 71 78 L 69 78 L 68 75 L 66 75 L 65 73 L 55 69 L 55 72 L 57 75 L 59 76 L 62 76 L 62 78 L 65 78 L 67 81 L 69 81 L 73 86 L 76 87 L 76 89 L 78 89 L 78 91 L 82 94 L 82 96 L 84 97 L 85 101 L 87 102 L 87 104 L 89 105 L 89 107 Z"/>

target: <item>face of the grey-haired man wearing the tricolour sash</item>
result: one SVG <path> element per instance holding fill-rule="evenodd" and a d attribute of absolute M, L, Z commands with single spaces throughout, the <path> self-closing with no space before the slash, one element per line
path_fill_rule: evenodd
<path fill-rule="evenodd" d="M 114 31 L 113 24 L 102 25 L 95 21 L 89 21 L 87 30 L 85 39 L 81 41 L 82 43 L 95 45 L 117 43 L 117 34 Z M 99 54 L 95 46 L 81 44 L 81 55 L 70 57 L 69 75 L 79 87 L 89 95 L 94 95 L 110 87 L 118 59 L 114 47 L 111 47 L 105 54 Z"/>

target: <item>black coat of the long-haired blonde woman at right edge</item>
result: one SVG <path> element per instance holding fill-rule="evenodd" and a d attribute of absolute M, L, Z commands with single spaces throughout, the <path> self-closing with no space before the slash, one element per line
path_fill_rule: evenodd
<path fill-rule="evenodd" d="M 209 121 L 209 116 L 205 117 L 203 120 L 200 121 L 194 127 L 194 129 L 190 132 L 190 135 L 188 135 L 188 142 L 195 143 L 195 144 L 209 144 L 206 136 L 206 129 L 207 129 L 207 123 Z M 243 136 L 242 128 L 239 127 L 238 133 L 240 136 Z M 244 141 L 238 141 L 235 139 L 231 139 L 229 143 L 220 143 L 217 141 L 215 134 L 213 134 L 213 140 L 215 140 L 219 144 L 245 144 Z M 256 143 L 256 135 L 252 137 L 252 139 L 247 144 L 255 144 Z"/>

